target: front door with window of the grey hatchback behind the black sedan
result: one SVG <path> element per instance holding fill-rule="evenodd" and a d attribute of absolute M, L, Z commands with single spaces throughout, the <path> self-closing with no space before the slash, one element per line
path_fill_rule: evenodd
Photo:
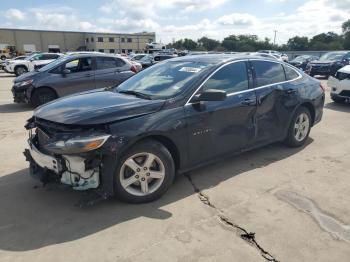
<path fill-rule="evenodd" d="M 68 69 L 69 73 L 64 74 L 65 69 Z M 59 96 L 94 89 L 92 58 L 82 57 L 67 61 L 50 72 L 50 78 L 47 82 L 56 89 Z"/>

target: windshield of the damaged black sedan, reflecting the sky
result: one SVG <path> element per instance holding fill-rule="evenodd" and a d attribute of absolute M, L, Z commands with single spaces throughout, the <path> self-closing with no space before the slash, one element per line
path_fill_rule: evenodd
<path fill-rule="evenodd" d="M 181 93 L 187 83 L 210 66 L 189 61 L 159 63 L 129 78 L 115 90 L 134 91 L 150 98 L 170 98 Z"/>

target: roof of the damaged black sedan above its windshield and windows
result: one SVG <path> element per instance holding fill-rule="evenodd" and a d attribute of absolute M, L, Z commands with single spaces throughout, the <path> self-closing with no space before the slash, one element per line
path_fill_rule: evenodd
<path fill-rule="evenodd" d="M 171 61 L 183 61 L 183 62 L 198 62 L 198 63 L 209 63 L 209 64 L 221 64 L 234 60 L 243 59 L 259 59 L 268 60 L 272 62 L 280 62 L 276 59 L 270 59 L 267 57 L 247 55 L 247 54 L 205 54 L 195 56 L 181 56 L 171 59 Z"/>

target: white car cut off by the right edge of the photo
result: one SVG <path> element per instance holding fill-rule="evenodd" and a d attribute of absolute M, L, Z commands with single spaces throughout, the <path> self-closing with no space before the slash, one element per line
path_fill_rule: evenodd
<path fill-rule="evenodd" d="M 335 76 L 330 76 L 327 85 L 331 88 L 334 102 L 344 103 L 350 100 L 350 65 L 340 68 Z"/>

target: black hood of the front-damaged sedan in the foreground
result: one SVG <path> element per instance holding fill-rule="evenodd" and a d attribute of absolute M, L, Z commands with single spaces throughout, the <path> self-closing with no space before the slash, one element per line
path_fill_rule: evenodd
<path fill-rule="evenodd" d="M 43 105 L 34 112 L 34 117 L 69 125 L 105 124 L 156 112 L 164 103 L 164 100 L 97 90 Z"/>

